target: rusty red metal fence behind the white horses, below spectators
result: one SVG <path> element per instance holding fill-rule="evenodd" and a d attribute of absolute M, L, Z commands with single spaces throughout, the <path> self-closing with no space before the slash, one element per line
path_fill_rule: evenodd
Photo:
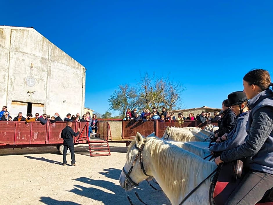
<path fill-rule="evenodd" d="M 164 131 L 166 127 L 175 126 L 175 127 L 200 127 L 204 129 L 204 127 L 211 122 L 205 122 L 201 124 L 197 120 L 183 120 L 182 122 L 179 121 L 161 121 L 161 120 L 151 120 L 147 122 L 138 121 L 135 122 L 134 120 L 131 121 L 123 121 L 122 122 L 122 138 L 123 139 L 133 139 L 136 136 L 137 132 L 139 132 L 143 136 L 148 136 L 152 132 L 155 132 L 155 135 L 159 138 L 163 137 Z M 213 125 L 218 126 L 218 122 L 211 123 Z"/>

